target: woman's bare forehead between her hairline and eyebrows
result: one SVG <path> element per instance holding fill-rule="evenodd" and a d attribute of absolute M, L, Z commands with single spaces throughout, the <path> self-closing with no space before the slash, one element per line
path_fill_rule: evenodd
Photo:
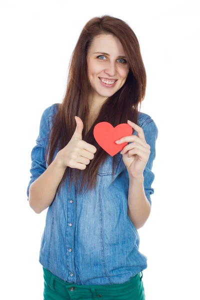
<path fill-rule="evenodd" d="M 109 55 L 113 56 L 125 55 L 120 40 L 118 39 L 118 37 L 112 34 L 103 34 L 94 37 L 93 42 L 89 48 L 89 53 L 93 54 L 93 52 L 106 52 Z"/>

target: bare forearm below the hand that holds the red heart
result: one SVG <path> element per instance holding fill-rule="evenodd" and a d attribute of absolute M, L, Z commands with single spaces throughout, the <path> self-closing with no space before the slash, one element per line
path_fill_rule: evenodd
<path fill-rule="evenodd" d="M 150 203 L 145 196 L 144 178 L 129 178 L 127 214 L 136 227 L 142 227 L 150 214 Z"/>

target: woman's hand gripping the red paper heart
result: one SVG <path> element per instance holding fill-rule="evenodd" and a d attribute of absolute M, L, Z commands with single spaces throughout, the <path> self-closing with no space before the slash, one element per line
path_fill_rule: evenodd
<path fill-rule="evenodd" d="M 130 142 L 121 150 L 123 162 L 131 178 L 142 178 L 143 170 L 150 155 L 150 145 L 146 143 L 143 129 L 131 121 L 127 121 L 137 135 L 124 136 L 118 139 L 120 142 Z M 116 142 L 116 141 L 115 141 Z M 117 144 L 119 144 L 117 143 Z"/>

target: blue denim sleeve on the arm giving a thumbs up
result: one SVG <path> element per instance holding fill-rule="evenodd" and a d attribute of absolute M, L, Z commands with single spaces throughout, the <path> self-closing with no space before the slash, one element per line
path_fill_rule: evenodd
<path fill-rule="evenodd" d="M 36 180 L 46 169 L 45 162 L 45 151 L 48 140 L 48 132 L 49 132 L 49 112 L 51 106 L 47 107 L 40 119 L 39 124 L 39 134 L 35 140 L 36 145 L 32 148 L 30 157 L 31 157 L 31 167 L 30 167 L 30 181 L 27 186 L 27 200 L 29 197 L 29 187 L 30 184 Z"/>

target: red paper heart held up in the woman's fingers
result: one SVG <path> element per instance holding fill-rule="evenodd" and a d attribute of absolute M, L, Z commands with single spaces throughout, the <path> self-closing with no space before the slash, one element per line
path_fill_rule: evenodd
<path fill-rule="evenodd" d="M 132 127 L 126 123 L 113 127 L 108 122 L 99 122 L 93 128 L 93 135 L 99 146 L 113 156 L 128 143 L 116 144 L 115 140 L 123 136 L 132 135 Z"/>

